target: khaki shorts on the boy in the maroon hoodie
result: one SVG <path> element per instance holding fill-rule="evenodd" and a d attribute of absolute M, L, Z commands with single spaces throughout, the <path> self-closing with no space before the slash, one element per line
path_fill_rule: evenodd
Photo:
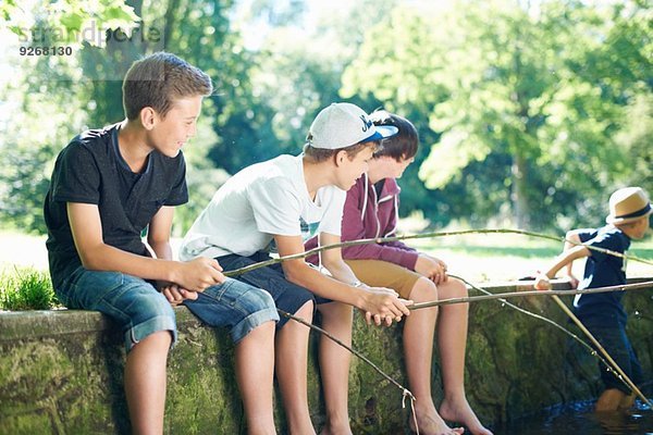
<path fill-rule="evenodd" d="M 421 275 L 402 265 L 381 260 L 345 260 L 358 279 L 370 287 L 392 288 L 404 299 Z"/>

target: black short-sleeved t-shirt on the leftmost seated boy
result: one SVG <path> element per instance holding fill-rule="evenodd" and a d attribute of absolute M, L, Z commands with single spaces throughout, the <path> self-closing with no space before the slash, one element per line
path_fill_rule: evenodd
<path fill-rule="evenodd" d="M 148 256 L 140 235 L 162 206 L 188 201 L 186 164 L 180 152 L 169 158 L 152 151 L 136 174 L 118 147 L 119 124 L 75 137 L 54 164 L 44 214 L 54 288 L 82 264 L 67 217 L 66 202 L 97 204 L 107 245 Z"/>

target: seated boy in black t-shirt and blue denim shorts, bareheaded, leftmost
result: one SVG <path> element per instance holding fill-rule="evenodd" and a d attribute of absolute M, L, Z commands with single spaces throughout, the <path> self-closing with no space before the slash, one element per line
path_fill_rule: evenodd
<path fill-rule="evenodd" d="M 163 432 L 178 303 L 211 326 L 230 326 L 249 433 L 274 433 L 272 298 L 224 277 L 215 260 L 173 261 L 169 243 L 173 208 L 188 200 L 181 148 L 211 91 L 204 72 L 173 54 L 135 62 L 123 83 L 126 120 L 75 137 L 57 159 L 46 197 L 58 297 L 109 315 L 124 333 L 135 433 Z"/>

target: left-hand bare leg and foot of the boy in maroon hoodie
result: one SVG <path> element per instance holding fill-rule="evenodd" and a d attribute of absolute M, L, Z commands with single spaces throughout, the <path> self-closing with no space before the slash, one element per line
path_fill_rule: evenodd
<path fill-rule="evenodd" d="M 438 299 L 435 284 L 426 277 L 415 283 L 409 298 L 415 302 Z M 419 433 L 424 435 L 449 435 L 461 433 L 446 425 L 438 414 L 431 395 L 431 361 L 433 358 L 433 336 L 438 307 L 415 310 L 406 318 L 404 325 L 404 357 L 410 390 L 415 395 L 415 414 Z M 416 430 L 412 418 L 409 420 L 412 431 Z"/>

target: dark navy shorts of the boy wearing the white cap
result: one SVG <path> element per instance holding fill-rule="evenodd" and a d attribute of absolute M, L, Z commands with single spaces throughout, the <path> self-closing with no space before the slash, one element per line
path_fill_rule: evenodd
<path fill-rule="evenodd" d="M 230 254 L 218 257 L 215 260 L 218 260 L 224 271 L 233 271 L 260 261 L 270 260 L 270 257 L 267 252 L 257 252 L 251 257 Z M 264 289 L 272 295 L 276 308 L 291 314 L 296 313 L 306 302 L 315 301 L 312 293 L 285 278 L 281 264 L 255 269 L 235 278 Z M 287 321 L 288 318 L 282 315 L 279 323 L 276 323 L 276 328 L 283 327 Z"/>

